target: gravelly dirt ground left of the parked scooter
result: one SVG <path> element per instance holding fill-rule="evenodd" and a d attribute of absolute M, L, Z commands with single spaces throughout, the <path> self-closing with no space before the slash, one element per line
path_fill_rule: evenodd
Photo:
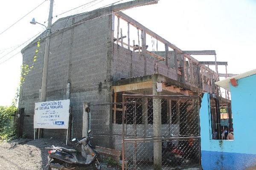
<path fill-rule="evenodd" d="M 48 150 L 44 147 L 66 146 L 57 139 L 15 139 L 12 142 L 0 142 L 0 170 L 45 170 L 48 162 Z M 113 170 L 103 165 L 103 170 Z"/>

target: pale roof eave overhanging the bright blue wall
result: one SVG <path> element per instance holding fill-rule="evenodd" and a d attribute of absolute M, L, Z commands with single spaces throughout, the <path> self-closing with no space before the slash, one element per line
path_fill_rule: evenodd
<path fill-rule="evenodd" d="M 215 82 L 216 85 L 230 91 L 230 79 L 241 79 L 241 78 L 244 78 L 244 77 L 248 77 L 248 76 L 251 76 L 253 74 L 256 74 L 256 69 L 254 70 L 251 70 L 251 71 L 247 71 L 245 73 L 242 73 L 242 74 L 239 74 L 239 75 L 236 75 L 236 76 L 233 76 L 233 77 L 228 77 L 227 79 L 224 79 L 224 80 L 221 80 L 221 81 L 218 81 L 218 82 Z"/>

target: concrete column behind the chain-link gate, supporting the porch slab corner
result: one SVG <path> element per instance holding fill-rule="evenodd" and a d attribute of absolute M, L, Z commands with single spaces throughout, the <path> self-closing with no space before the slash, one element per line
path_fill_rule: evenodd
<path fill-rule="evenodd" d="M 153 78 L 153 95 L 157 93 L 157 79 Z M 161 137 L 161 99 L 153 98 L 153 136 Z M 162 141 L 154 140 L 154 170 L 162 170 Z"/>

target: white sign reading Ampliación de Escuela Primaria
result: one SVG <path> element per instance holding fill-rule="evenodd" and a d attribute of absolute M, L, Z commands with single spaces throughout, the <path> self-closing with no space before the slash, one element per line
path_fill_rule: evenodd
<path fill-rule="evenodd" d="M 68 129 L 70 100 L 35 103 L 34 128 Z"/>

